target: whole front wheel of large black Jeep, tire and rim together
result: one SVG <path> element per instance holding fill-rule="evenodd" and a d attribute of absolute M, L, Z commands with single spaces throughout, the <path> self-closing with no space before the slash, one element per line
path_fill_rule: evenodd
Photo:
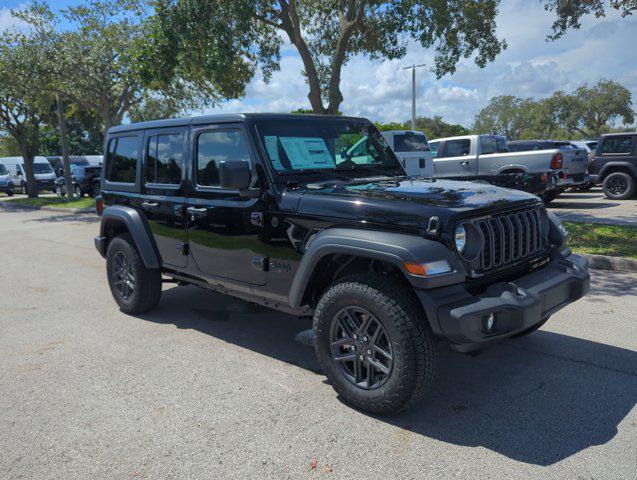
<path fill-rule="evenodd" d="M 418 300 L 393 277 L 355 275 L 330 287 L 314 314 L 314 338 L 334 389 L 368 412 L 409 408 L 435 377 L 434 335 Z"/>

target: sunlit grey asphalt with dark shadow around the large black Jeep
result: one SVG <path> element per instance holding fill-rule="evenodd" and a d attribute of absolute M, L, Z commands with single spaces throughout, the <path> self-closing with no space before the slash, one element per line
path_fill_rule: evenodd
<path fill-rule="evenodd" d="M 383 418 L 325 383 L 308 320 L 172 285 L 120 313 L 96 230 L 0 209 L 3 479 L 635 478 L 637 275 L 593 271 L 476 357 L 441 346 L 430 396 Z"/>

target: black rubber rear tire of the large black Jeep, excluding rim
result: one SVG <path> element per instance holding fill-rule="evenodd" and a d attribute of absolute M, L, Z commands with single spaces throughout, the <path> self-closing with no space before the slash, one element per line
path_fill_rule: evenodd
<path fill-rule="evenodd" d="M 115 286 L 114 258 L 122 252 L 130 262 L 131 272 L 135 278 L 135 287 L 128 298 L 123 298 Z M 145 313 L 157 306 L 161 297 L 161 272 L 148 269 L 135 248 L 130 234 L 115 237 L 108 245 L 106 252 L 106 274 L 108 284 L 119 309 L 124 313 Z"/>

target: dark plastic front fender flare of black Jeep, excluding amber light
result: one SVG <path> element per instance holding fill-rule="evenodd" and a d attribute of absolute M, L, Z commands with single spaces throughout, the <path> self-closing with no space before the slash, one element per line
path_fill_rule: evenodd
<path fill-rule="evenodd" d="M 293 308 L 301 306 L 312 274 L 326 255 L 350 254 L 395 265 L 415 288 L 437 288 L 465 280 L 465 270 L 458 258 L 442 243 L 417 235 L 353 228 L 323 230 L 311 241 L 292 280 L 289 301 Z M 446 260 L 451 272 L 432 277 L 419 277 L 407 272 L 404 262 Z"/>

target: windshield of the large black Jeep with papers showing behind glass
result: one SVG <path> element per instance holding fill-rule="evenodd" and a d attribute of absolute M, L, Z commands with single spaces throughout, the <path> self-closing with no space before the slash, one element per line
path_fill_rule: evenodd
<path fill-rule="evenodd" d="M 309 172 L 400 174 L 396 155 L 369 122 L 303 118 L 257 122 L 268 160 L 281 175 Z"/>

